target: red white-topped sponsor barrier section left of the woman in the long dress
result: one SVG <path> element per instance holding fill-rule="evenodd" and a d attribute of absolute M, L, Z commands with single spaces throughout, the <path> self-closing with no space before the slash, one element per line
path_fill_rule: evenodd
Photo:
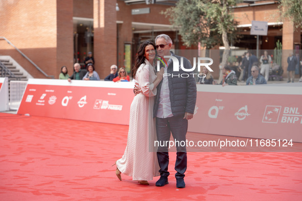
<path fill-rule="evenodd" d="M 18 114 L 129 124 L 132 82 L 29 79 Z"/>

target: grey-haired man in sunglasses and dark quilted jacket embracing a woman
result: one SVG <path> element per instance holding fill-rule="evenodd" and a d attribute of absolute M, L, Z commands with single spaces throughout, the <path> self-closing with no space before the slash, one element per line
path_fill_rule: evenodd
<path fill-rule="evenodd" d="M 157 86 L 157 95 L 154 104 L 154 116 L 156 117 L 156 134 L 159 141 L 157 158 L 160 166 L 160 179 L 156 186 L 165 186 L 168 184 L 168 165 L 169 153 L 168 145 L 162 146 L 163 143 L 170 140 L 171 133 L 177 149 L 175 163 L 176 187 L 184 188 L 184 172 L 187 169 L 187 149 L 183 143 L 188 130 L 188 120 L 193 118 L 196 104 L 196 82 L 192 75 L 189 77 L 181 76 L 182 73 L 192 73 L 182 70 L 177 66 L 177 71 L 173 68 L 174 60 L 177 59 L 181 64 L 181 57 L 170 52 L 172 46 L 171 38 L 166 34 L 158 35 L 155 38 L 157 54 L 165 59 L 165 74 L 162 81 Z M 173 56 L 174 58 L 165 58 Z M 183 67 L 190 69 L 189 60 L 183 58 Z M 175 70 L 175 71 L 174 71 Z M 160 143 L 161 142 L 161 143 Z M 182 143 L 181 143 L 182 142 Z"/>

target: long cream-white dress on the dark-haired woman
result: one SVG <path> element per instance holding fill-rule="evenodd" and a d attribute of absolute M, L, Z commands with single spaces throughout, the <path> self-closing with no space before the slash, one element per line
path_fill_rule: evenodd
<path fill-rule="evenodd" d="M 151 181 L 159 175 L 160 169 L 153 144 L 156 140 L 153 118 L 156 87 L 152 83 L 156 75 L 148 60 L 145 63 L 136 71 L 135 86 L 141 93 L 134 96 L 132 101 L 127 146 L 123 157 L 117 161 L 119 170 L 135 181 Z"/>

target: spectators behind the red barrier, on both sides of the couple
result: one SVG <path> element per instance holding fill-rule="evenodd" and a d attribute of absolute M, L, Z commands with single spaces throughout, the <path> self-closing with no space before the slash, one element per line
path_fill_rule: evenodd
<path fill-rule="evenodd" d="M 245 52 L 241 57 L 238 57 L 235 61 L 227 62 L 225 66 L 219 65 L 219 80 L 222 86 L 225 85 L 237 85 L 237 82 L 246 82 L 246 85 L 258 85 L 267 84 L 270 78 L 270 73 L 278 68 L 281 68 L 276 63 L 272 62 L 272 57 L 268 54 L 268 51 L 264 51 L 264 54 L 258 59 L 251 51 Z M 300 68 L 302 66 L 302 60 L 299 61 L 297 56 L 293 53 L 289 54 L 287 59 L 287 79 L 288 82 L 294 82 L 296 66 Z M 81 68 L 79 63 L 74 64 L 74 73 L 69 76 L 67 67 L 62 66 L 59 74 L 59 79 L 68 80 L 100 80 L 99 74 L 95 71 L 95 60 L 92 57 L 92 53 L 88 53 L 88 57 L 85 58 L 84 68 Z M 206 67 L 202 68 L 204 76 L 198 78 L 197 84 L 217 84 L 210 71 Z M 299 70 L 301 77 L 301 70 Z M 110 66 L 110 74 L 104 79 L 104 81 L 113 82 L 130 82 L 130 77 L 124 67 L 119 68 L 117 65 Z M 302 77 L 299 82 L 302 82 Z"/>

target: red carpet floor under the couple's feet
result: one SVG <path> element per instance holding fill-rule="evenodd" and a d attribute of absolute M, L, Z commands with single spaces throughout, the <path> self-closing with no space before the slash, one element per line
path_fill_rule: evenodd
<path fill-rule="evenodd" d="M 0 200 L 301 200 L 302 153 L 188 153 L 184 189 L 139 185 L 114 161 L 128 126 L 0 113 Z"/>

